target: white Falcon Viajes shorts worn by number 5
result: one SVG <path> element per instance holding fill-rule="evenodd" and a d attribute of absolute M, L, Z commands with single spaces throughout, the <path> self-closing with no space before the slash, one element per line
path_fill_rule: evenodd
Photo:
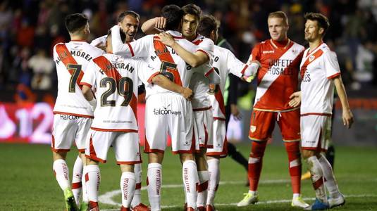
<path fill-rule="evenodd" d="M 193 132 L 192 106 L 178 94 L 154 94 L 145 105 L 144 152 L 163 153 L 171 135 L 173 153 L 194 153 L 199 150 Z"/>

